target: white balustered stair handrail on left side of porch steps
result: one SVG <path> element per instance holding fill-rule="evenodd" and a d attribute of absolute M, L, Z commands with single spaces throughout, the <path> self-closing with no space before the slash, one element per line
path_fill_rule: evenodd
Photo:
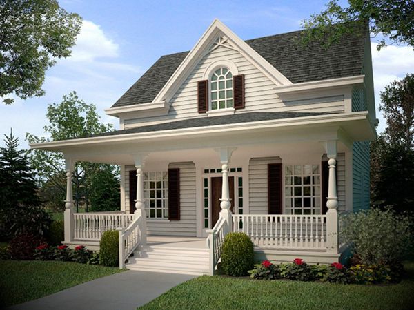
<path fill-rule="evenodd" d="M 125 260 L 139 246 L 141 242 L 141 216 L 134 218 L 132 223 L 124 230 L 119 227 L 119 269 L 125 268 Z"/>

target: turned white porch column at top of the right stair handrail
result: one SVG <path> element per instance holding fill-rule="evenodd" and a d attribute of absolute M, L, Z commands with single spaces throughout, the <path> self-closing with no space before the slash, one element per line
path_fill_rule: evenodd
<path fill-rule="evenodd" d="M 235 147 L 225 147 L 221 149 L 217 149 L 220 155 L 220 162 L 221 162 L 221 176 L 222 176 L 222 183 L 221 183 L 221 199 L 220 199 L 220 217 L 224 218 L 227 223 L 226 234 L 232 231 L 233 227 L 233 218 L 232 213 L 230 210 L 231 207 L 231 199 L 230 193 L 228 189 L 228 163 L 230 163 L 231 154 L 235 150 Z"/>

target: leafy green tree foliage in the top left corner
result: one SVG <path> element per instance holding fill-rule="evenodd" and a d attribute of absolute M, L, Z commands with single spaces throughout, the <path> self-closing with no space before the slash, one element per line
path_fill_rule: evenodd
<path fill-rule="evenodd" d="M 46 70 L 70 56 L 80 29 L 81 17 L 56 0 L 1 0 L 0 97 L 42 96 Z"/>

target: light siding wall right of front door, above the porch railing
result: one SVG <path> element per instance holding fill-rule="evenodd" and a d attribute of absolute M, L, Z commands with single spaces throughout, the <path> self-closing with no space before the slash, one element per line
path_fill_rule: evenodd
<path fill-rule="evenodd" d="M 322 161 L 322 157 L 321 157 Z M 282 163 L 279 157 L 251 158 L 249 164 L 250 214 L 268 214 L 268 164 Z M 345 154 L 337 155 L 338 210 L 345 211 Z"/>

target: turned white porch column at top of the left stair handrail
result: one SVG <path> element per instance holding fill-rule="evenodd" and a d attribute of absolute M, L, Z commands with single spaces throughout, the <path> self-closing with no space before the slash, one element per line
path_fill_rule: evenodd
<path fill-rule="evenodd" d="M 147 154 L 137 154 L 134 156 L 135 167 L 137 168 L 137 199 L 135 199 L 135 218 L 141 217 L 139 230 L 141 231 L 141 243 L 146 244 L 146 211 L 144 202 L 144 162 Z"/>

